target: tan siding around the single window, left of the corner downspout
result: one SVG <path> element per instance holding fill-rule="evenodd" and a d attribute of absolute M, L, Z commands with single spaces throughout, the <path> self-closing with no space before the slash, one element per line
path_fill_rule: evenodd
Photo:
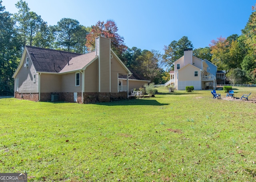
<path fill-rule="evenodd" d="M 76 86 L 76 72 L 61 75 L 62 92 L 82 92 L 82 73 L 80 72 L 80 86 Z"/>

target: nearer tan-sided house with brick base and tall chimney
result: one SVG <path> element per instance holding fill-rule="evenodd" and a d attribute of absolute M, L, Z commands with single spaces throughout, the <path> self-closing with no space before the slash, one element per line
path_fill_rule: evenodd
<path fill-rule="evenodd" d="M 96 38 L 96 51 L 87 54 L 26 45 L 13 75 L 14 95 L 77 103 L 125 99 L 130 88 L 148 83 L 130 77 L 130 70 L 110 48 L 109 38 Z"/>

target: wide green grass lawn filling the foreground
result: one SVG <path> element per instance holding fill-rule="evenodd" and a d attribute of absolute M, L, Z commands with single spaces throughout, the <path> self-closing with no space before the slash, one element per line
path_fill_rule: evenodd
<path fill-rule="evenodd" d="M 256 181 L 256 101 L 158 87 L 98 104 L 0 99 L 0 172 L 28 181 Z M 255 87 L 234 87 L 256 97 Z"/>

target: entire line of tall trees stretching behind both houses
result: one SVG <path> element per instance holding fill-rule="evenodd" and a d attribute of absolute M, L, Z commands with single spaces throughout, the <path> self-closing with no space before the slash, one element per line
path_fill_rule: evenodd
<path fill-rule="evenodd" d="M 164 54 L 158 50 L 129 48 L 124 44 L 124 38 L 117 33 L 118 27 L 114 20 L 83 26 L 78 20 L 62 18 L 57 25 L 48 26 L 41 16 L 30 11 L 25 1 L 19 0 L 15 6 L 18 12 L 10 14 L 5 11 L 0 0 L 0 95 L 13 95 L 12 75 L 19 65 L 25 45 L 88 53 L 95 49 L 95 38 L 105 34 L 111 39 L 113 51 L 129 69 L 156 84 L 169 79 L 168 72 L 173 69 L 174 61 L 184 55 L 184 49 L 194 48 L 186 36 L 164 46 Z M 209 47 L 193 50 L 194 56 L 211 61 L 218 66 L 218 70 L 228 70 L 228 77 L 233 83 L 256 82 L 254 10 L 253 6 L 242 35 L 220 37 L 212 40 Z M 236 80 L 238 74 L 240 80 Z"/>

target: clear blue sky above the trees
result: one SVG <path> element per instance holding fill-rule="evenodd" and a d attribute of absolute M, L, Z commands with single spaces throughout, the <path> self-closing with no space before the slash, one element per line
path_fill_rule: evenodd
<path fill-rule="evenodd" d="M 18 0 L 2 0 L 6 11 L 16 13 Z M 61 18 L 83 26 L 114 20 L 128 47 L 158 50 L 187 36 L 194 49 L 211 40 L 241 35 L 252 14 L 254 0 L 25 0 L 48 25 Z"/>

